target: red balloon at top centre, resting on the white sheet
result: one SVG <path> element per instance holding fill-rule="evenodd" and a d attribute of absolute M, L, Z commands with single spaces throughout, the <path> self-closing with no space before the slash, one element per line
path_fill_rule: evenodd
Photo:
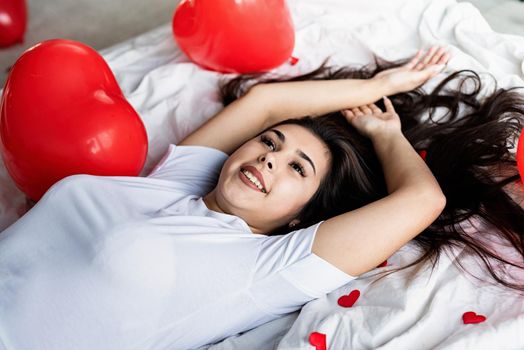
<path fill-rule="evenodd" d="M 182 0 L 173 34 L 195 63 L 228 73 L 270 70 L 289 59 L 295 45 L 285 0 Z"/>

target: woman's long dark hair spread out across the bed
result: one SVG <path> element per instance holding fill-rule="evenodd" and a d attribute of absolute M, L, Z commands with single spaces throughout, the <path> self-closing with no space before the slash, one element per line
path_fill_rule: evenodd
<path fill-rule="evenodd" d="M 225 105 L 233 102 L 253 81 L 367 79 L 405 63 L 375 59 L 374 64 L 361 68 L 335 68 L 327 65 L 328 60 L 314 71 L 295 77 L 244 75 L 223 81 L 222 101 Z M 454 246 L 479 258 L 498 283 L 524 292 L 524 284 L 514 281 L 505 269 L 524 269 L 524 209 L 506 192 L 509 186 L 520 195 L 524 192 L 512 152 L 524 124 L 524 97 L 517 88 L 495 87 L 487 97 L 483 98 L 484 94 L 480 76 L 462 70 L 447 76 L 430 93 L 419 88 L 390 96 L 401 118 L 403 134 L 416 150 L 426 152 L 426 164 L 446 196 L 446 207 L 414 238 L 423 254 L 407 266 L 384 271 L 387 273 L 381 278 L 418 263 L 432 262 L 434 269 L 444 248 Z M 384 110 L 381 101 L 376 104 Z M 371 141 L 351 127 L 340 112 L 279 124 L 286 123 L 302 125 L 319 136 L 332 157 L 330 171 L 302 209 L 298 216 L 301 222 L 293 230 L 387 195 L 382 167 Z M 483 228 L 468 231 L 467 226 L 476 221 Z M 289 231 L 285 226 L 271 234 Z M 493 249 L 493 241 L 516 252 L 517 260 Z M 461 257 L 456 261 L 462 270 L 479 279 L 464 267 Z"/>

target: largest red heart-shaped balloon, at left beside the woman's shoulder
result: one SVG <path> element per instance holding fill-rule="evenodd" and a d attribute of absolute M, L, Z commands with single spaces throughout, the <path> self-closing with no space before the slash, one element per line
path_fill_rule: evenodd
<path fill-rule="evenodd" d="M 142 120 L 104 59 L 70 40 L 28 49 L 0 102 L 1 151 L 28 197 L 74 174 L 136 176 L 147 155 Z"/>

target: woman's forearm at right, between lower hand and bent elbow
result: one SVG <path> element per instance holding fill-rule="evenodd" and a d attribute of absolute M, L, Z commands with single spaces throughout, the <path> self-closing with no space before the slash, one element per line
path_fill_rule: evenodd
<path fill-rule="evenodd" d="M 444 197 L 431 170 L 400 131 L 381 132 L 371 140 L 389 193 L 410 189 Z"/>

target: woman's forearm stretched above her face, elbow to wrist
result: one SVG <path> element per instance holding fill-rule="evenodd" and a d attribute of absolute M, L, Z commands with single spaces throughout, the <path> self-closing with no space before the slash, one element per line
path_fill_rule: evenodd
<path fill-rule="evenodd" d="M 379 79 L 276 82 L 259 84 L 256 88 L 275 123 L 358 107 L 390 93 L 387 84 Z"/>

